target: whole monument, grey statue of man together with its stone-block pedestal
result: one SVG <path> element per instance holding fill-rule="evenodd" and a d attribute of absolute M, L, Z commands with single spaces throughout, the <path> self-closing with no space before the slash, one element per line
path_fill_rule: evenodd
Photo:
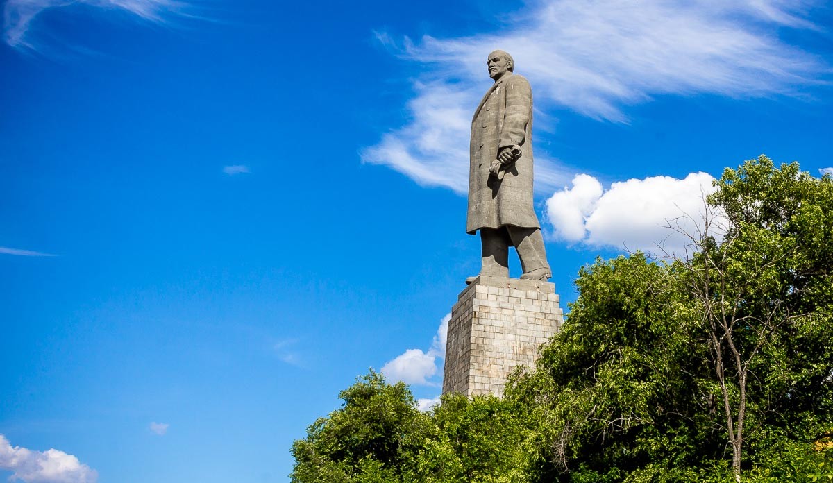
<path fill-rule="evenodd" d="M 481 271 L 451 309 L 444 394 L 502 396 L 509 372 L 532 366 L 562 320 L 532 201 L 531 87 L 508 53 L 486 63 L 494 84 L 471 121 L 466 221 L 466 232 L 480 232 Z M 510 246 L 520 279 L 509 277 Z"/>

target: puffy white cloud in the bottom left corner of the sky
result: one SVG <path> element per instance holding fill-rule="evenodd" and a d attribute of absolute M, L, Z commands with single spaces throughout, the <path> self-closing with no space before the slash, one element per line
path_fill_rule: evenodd
<path fill-rule="evenodd" d="M 63 451 L 32 451 L 12 446 L 0 435 L 0 470 L 12 471 L 9 481 L 26 483 L 95 483 L 98 474 Z"/>

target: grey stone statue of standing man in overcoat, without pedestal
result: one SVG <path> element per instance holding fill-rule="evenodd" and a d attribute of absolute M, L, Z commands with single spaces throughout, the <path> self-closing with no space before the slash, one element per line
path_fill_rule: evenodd
<path fill-rule="evenodd" d="M 509 246 L 515 246 L 521 278 L 546 281 L 552 274 L 532 206 L 531 87 L 512 73 L 508 53 L 491 52 L 486 63 L 495 83 L 471 121 L 466 232 L 480 231 L 481 275 L 508 277 Z"/>

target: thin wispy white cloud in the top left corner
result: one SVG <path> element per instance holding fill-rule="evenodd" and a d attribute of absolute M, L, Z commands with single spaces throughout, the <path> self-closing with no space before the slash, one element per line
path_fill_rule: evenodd
<path fill-rule="evenodd" d="M 38 39 L 32 33 L 37 17 L 52 8 L 77 4 L 120 10 L 155 23 L 165 23 L 188 7 L 187 2 L 179 0 L 7 0 L 3 7 L 3 40 L 15 48 L 37 51 Z"/>

